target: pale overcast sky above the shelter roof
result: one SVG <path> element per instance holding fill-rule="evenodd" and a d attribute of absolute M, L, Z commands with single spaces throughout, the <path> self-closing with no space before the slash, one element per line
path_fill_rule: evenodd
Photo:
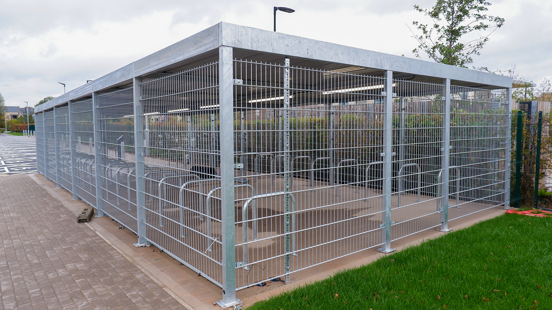
<path fill-rule="evenodd" d="M 552 77 L 552 1 L 490 0 L 506 19 L 473 66 L 508 70 L 529 81 Z M 35 105 L 127 65 L 218 22 L 278 31 L 413 57 L 407 25 L 424 21 L 412 6 L 435 0 L 0 0 L 0 93 L 6 105 Z M 427 59 L 427 58 L 424 58 Z"/>

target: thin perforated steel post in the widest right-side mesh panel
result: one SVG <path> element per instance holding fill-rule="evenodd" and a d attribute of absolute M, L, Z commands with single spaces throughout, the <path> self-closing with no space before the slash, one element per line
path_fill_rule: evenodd
<path fill-rule="evenodd" d="M 289 215 L 290 211 L 290 185 L 291 185 L 291 178 L 292 175 L 290 173 L 291 167 L 290 167 L 290 153 L 289 153 L 289 145 L 291 143 L 290 137 L 289 137 L 289 58 L 285 58 L 285 68 L 284 68 L 284 233 L 285 233 L 285 284 L 289 284 L 290 282 L 290 254 L 289 254 L 289 244 L 290 244 L 290 225 L 291 225 L 291 217 Z"/>

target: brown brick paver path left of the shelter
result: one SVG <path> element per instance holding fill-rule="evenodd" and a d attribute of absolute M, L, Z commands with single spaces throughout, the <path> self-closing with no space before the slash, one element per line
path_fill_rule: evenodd
<path fill-rule="evenodd" d="M 0 176 L 0 308 L 182 309 L 28 175 Z"/>

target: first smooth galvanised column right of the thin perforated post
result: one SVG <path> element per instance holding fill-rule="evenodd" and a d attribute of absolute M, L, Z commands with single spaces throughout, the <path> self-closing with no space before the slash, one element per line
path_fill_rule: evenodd
<path fill-rule="evenodd" d="M 393 72 L 385 71 L 385 104 L 384 104 L 384 132 L 383 142 L 383 225 L 385 225 L 383 240 L 384 245 L 378 249 L 379 252 L 390 253 L 395 249 L 391 248 L 391 194 L 393 185 Z"/>

